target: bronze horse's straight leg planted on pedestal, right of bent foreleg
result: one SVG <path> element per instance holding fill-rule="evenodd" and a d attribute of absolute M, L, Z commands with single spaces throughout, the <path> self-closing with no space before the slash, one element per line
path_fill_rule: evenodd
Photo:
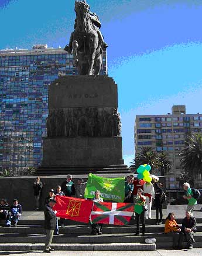
<path fill-rule="evenodd" d="M 95 56 L 96 56 L 96 51 L 98 47 L 98 36 L 93 33 L 93 35 L 90 35 L 90 55 L 89 55 L 89 69 L 88 69 L 88 74 L 92 75 L 93 74 L 93 65 L 95 62 Z"/>

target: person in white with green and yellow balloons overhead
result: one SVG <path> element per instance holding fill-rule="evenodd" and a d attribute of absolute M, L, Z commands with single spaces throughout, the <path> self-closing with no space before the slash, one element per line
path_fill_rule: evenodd
<path fill-rule="evenodd" d="M 143 185 L 144 196 L 146 197 L 146 204 L 148 205 L 148 210 L 145 211 L 145 219 L 152 219 L 152 198 L 155 197 L 155 189 L 151 183 L 152 177 L 150 176 L 151 166 L 141 165 L 137 169 L 138 179 L 143 179 L 145 184 Z"/>

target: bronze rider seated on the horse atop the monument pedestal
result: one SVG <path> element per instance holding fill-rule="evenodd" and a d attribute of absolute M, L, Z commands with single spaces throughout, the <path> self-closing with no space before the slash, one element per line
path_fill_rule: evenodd
<path fill-rule="evenodd" d="M 87 4 L 87 2 L 85 0 L 82 0 L 82 2 L 84 2 L 85 4 Z M 88 5 L 88 4 L 87 4 Z M 88 5 L 89 6 L 89 5 Z M 96 13 L 94 12 L 90 12 L 90 6 L 88 8 L 88 14 L 90 15 L 90 19 L 91 19 L 91 22 L 93 23 L 93 27 L 94 29 L 97 31 L 98 33 L 98 38 L 100 40 L 100 44 L 101 44 L 101 47 L 102 47 L 102 50 L 106 50 L 106 48 L 108 47 L 107 43 L 104 42 L 104 37 L 102 36 L 102 33 L 100 31 L 100 28 L 101 28 L 101 22 L 100 22 L 100 19 L 99 17 L 97 16 Z M 73 35 L 74 33 L 76 32 L 77 30 L 77 19 L 75 20 L 75 23 L 74 23 L 74 32 L 71 33 L 71 36 L 70 36 L 70 42 L 69 42 L 69 45 L 66 45 L 66 47 L 64 48 L 64 50 L 67 50 L 67 52 L 71 53 L 72 52 L 72 43 L 73 43 Z"/>

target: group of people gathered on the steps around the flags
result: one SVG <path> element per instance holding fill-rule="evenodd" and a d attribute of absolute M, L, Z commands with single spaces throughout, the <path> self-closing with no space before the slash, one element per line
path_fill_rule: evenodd
<path fill-rule="evenodd" d="M 53 234 L 59 234 L 59 222 L 56 217 L 56 211 L 53 210 L 56 204 L 55 196 L 73 196 L 77 198 L 84 198 L 86 182 L 83 179 L 77 180 L 77 185 L 74 185 L 72 176 L 67 175 L 67 179 L 58 185 L 56 189 L 50 189 L 49 195 L 44 201 L 44 227 L 46 229 L 46 245 L 44 252 L 53 250 L 50 247 Z M 36 209 L 39 210 L 40 196 L 43 188 L 43 183 L 37 177 L 33 184 Z M 189 183 L 184 183 L 183 189 L 186 191 L 184 199 L 188 200 L 186 217 L 183 219 L 182 227 L 176 223 L 174 213 L 169 213 L 165 222 L 165 234 L 173 237 L 173 248 L 182 248 L 183 234 L 186 235 L 188 247 L 193 248 L 194 238 L 196 232 L 196 219 L 193 216 L 194 206 L 197 200 L 193 196 L 193 190 L 190 188 Z M 103 202 L 100 197 L 100 191 L 95 191 L 94 202 Z M 162 224 L 163 213 L 162 205 L 166 200 L 163 185 L 158 182 L 158 179 L 153 178 L 152 182 L 143 182 L 143 180 L 134 179 L 133 175 L 129 175 L 125 181 L 125 203 L 134 203 L 136 219 L 136 233 L 140 234 L 140 221 L 142 224 L 142 235 L 145 235 L 145 219 L 152 219 L 151 207 L 152 200 L 156 208 L 156 224 Z M 11 206 L 6 202 L 6 199 L 1 199 L 0 202 L 0 219 L 5 220 L 5 226 L 16 226 L 22 214 L 22 206 L 18 203 L 17 199 L 13 199 Z M 64 219 L 60 218 L 60 226 L 64 227 Z M 91 224 L 92 235 L 102 234 L 102 224 Z"/>

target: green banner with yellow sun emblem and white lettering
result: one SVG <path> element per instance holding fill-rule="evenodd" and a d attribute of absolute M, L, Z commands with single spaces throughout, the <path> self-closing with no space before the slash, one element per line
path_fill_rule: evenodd
<path fill-rule="evenodd" d="M 100 190 L 104 200 L 124 202 L 125 178 L 102 178 L 92 173 L 88 174 L 85 198 L 94 198 L 95 191 Z"/>

